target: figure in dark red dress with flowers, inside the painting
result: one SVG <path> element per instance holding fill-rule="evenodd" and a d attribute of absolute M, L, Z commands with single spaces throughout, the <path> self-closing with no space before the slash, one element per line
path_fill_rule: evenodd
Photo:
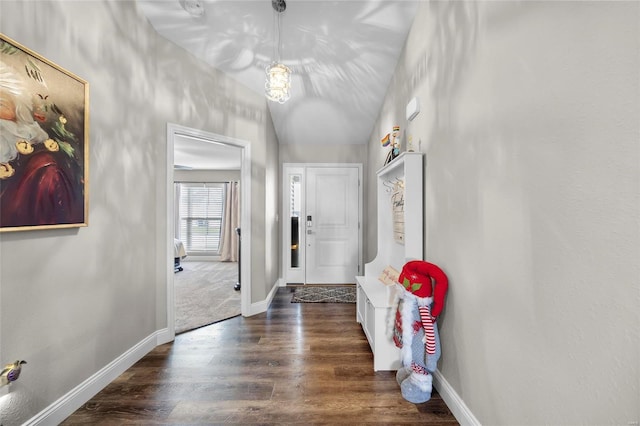
<path fill-rule="evenodd" d="M 44 114 L 43 105 L 53 108 Z M 65 124 L 0 62 L 0 227 L 84 222 L 83 173 Z"/>

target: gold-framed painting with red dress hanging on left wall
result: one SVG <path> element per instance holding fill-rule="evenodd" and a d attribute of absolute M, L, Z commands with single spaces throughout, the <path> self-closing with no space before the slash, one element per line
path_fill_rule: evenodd
<path fill-rule="evenodd" d="M 89 84 L 0 34 L 0 232 L 88 225 Z"/>

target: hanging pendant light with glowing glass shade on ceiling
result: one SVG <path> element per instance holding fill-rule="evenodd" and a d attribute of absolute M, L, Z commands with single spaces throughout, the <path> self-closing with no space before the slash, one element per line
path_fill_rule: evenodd
<path fill-rule="evenodd" d="M 273 46 L 274 60 L 266 69 L 267 81 L 264 84 L 264 88 L 267 99 L 283 104 L 291 97 L 289 91 L 291 89 L 291 70 L 280 62 L 281 17 L 287 8 L 287 3 L 285 0 L 271 0 L 271 7 L 275 11 L 276 40 Z"/>

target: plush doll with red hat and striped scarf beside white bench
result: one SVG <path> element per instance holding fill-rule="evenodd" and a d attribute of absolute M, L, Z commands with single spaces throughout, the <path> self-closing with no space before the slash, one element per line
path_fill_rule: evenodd
<path fill-rule="evenodd" d="M 402 368 L 396 373 L 402 397 L 419 404 L 431 398 L 432 373 L 440 358 L 436 319 L 449 285 L 438 266 L 422 260 L 407 262 L 398 278 L 398 308 L 393 340 L 401 348 Z"/>

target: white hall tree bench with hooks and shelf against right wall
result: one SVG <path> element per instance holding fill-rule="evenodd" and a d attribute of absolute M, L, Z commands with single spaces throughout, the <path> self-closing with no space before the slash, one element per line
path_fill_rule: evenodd
<path fill-rule="evenodd" d="M 377 188 L 378 254 L 356 277 L 356 321 L 373 351 L 373 369 L 397 370 L 400 349 L 389 333 L 393 295 L 378 277 L 389 265 L 400 271 L 407 261 L 423 259 L 423 154 L 404 152 L 378 170 Z"/>

